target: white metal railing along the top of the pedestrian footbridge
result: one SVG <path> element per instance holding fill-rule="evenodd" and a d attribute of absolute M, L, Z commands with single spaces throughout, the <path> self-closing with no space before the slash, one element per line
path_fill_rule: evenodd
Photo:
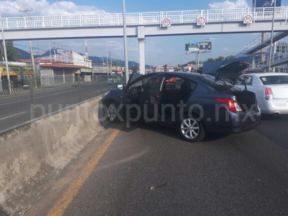
<path fill-rule="evenodd" d="M 162 18 L 170 18 L 171 23 L 195 23 L 198 16 L 204 16 L 206 22 L 243 21 L 246 14 L 253 16 L 253 21 L 271 20 L 273 7 L 208 9 L 126 13 L 127 25 L 160 24 Z M 287 21 L 288 6 L 276 7 L 275 19 Z M 4 29 L 114 26 L 122 25 L 122 13 L 29 16 L 2 18 Z"/>

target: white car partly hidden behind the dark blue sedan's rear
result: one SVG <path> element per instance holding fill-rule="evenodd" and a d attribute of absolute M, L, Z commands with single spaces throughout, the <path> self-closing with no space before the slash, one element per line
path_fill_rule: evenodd
<path fill-rule="evenodd" d="M 250 73 L 239 78 L 256 94 L 261 113 L 288 114 L 288 73 Z M 240 80 L 236 85 L 245 88 Z"/>

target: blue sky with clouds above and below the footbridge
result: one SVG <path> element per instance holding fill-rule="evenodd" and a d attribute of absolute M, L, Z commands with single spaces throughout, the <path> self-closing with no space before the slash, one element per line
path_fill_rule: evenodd
<path fill-rule="evenodd" d="M 175 11 L 175 10 L 196 10 L 196 9 L 216 9 L 216 8 L 242 8 L 251 6 L 252 0 L 125 0 L 126 12 L 152 12 L 152 11 Z M 61 0 L 12 0 L 0 1 L 2 17 L 19 16 L 15 9 L 23 9 L 21 4 L 28 5 L 34 9 L 29 15 L 35 14 L 42 15 L 59 15 L 59 14 L 84 14 L 89 11 L 93 13 L 121 13 L 122 1 L 121 0 L 71 0 L 69 2 Z M 200 3 L 198 3 L 200 2 Z M 9 6 L 7 6 L 8 4 Z M 288 0 L 282 0 L 282 5 L 288 5 Z M 15 8 L 13 8 L 15 7 Z M 244 33 L 244 34 L 209 34 L 209 35 L 184 35 L 184 36 L 159 36 L 159 37 L 146 37 L 145 46 L 145 63 L 149 64 L 149 41 L 151 47 L 161 44 L 151 49 L 151 63 L 154 65 L 160 64 L 180 64 L 189 60 L 195 59 L 195 54 L 186 55 L 184 50 L 185 38 L 190 38 L 196 41 L 203 38 L 209 38 L 212 41 L 212 52 L 200 54 L 200 60 L 205 60 L 208 57 L 227 56 L 237 54 L 241 51 L 241 47 L 250 42 L 259 33 Z M 112 58 L 123 59 L 123 39 L 122 38 L 101 38 L 101 39 L 88 39 L 89 55 L 102 56 L 105 54 L 105 46 L 98 42 L 101 41 L 108 45 L 108 51 L 112 51 Z M 283 40 L 287 41 L 287 38 Z M 52 41 L 52 40 L 51 40 Z M 84 40 L 53 40 L 54 42 L 69 45 L 73 51 L 84 53 Z M 139 62 L 138 42 L 137 38 L 128 38 L 128 59 Z M 28 41 L 15 41 L 16 44 L 28 45 Z M 32 41 L 34 47 L 38 46 L 37 41 Z M 20 48 L 20 47 L 19 47 Z M 28 47 L 24 48 L 28 51 Z M 153 51 L 152 51 L 153 50 Z M 176 53 L 176 54 L 174 54 Z M 183 54 L 183 55 L 181 55 Z M 180 57 L 181 56 L 181 57 Z"/>

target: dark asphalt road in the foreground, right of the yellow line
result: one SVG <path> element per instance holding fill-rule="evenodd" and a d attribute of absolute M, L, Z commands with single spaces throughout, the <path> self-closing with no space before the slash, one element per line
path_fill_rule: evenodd
<path fill-rule="evenodd" d="M 288 215 L 287 128 L 287 115 L 263 116 L 255 130 L 189 143 L 131 123 L 63 215 Z"/>

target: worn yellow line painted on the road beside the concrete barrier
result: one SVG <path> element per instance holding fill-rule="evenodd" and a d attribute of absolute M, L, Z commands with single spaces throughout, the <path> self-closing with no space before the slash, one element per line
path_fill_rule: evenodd
<path fill-rule="evenodd" d="M 77 176 L 71 185 L 66 189 L 64 194 L 58 199 L 54 206 L 49 210 L 47 216 L 61 216 L 65 209 L 68 207 L 69 203 L 72 201 L 73 197 L 76 195 L 82 184 L 85 182 L 87 177 L 90 175 L 91 171 L 97 165 L 98 161 L 101 159 L 105 151 L 108 149 L 118 132 L 122 124 L 118 129 L 114 129 L 109 137 L 104 141 L 101 148 L 96 152 L 96 154 L 90 159 L 90 161 L 82 169 L 81 174 Z"/>

